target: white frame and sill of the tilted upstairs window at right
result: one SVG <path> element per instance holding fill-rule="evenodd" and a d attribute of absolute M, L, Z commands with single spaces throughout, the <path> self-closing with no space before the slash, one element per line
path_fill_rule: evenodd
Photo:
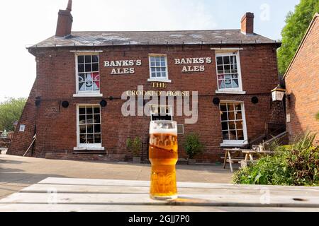
<path fill-rule="evenodd" d="M 219 88 L 218 81 L 218 64 L 217 57 L 231 57 L 235 56 L 237 61 L 237 74 L 238 74 L 238 88 Z M 215 51 L 215 66 L 216 66 L 216 81 L 217 81 L 217 90 L 216 93 L 238 93 L 245 94 L 246 92 L 242 90 L 242 69 L 240 66 L 240 51 L 227 51 L 227 52 L 216 52 Z"/>

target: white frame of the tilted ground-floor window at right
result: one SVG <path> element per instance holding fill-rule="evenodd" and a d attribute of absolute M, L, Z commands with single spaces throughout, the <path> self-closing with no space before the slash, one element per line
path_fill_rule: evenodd
<path fill-rule="evenodd" d="M 223 120 L 222 120 L 221 114 L 220 114 L 220 131 L 222 132 L 221 135 L 222 135 L 222 139 L 223 139 L 223 143 L 220 144 L 221 147 L 237 147 L 237 146 L 241 146 L 241 145 L 246 145 L 248 143 L 246 114 L 245 114 L 245 102 L 234 101 L 234 100 L 220 101 L 219 112 L 220 112 L 220 105 L 221 104 L 235 104 L 235 103 L 236 104 L 240 103 L 240 107 L 242 110 L 242 131 L 243 131 L 244 139 L 243 140 L 224 140 L 223 139 L 223 129 L 222 129 L 222 121 Z"/>

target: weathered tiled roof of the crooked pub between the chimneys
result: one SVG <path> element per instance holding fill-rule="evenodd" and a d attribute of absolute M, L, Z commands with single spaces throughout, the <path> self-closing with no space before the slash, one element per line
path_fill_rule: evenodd
<path fill-rule="evenodd" d="M 142 44 L 264 44 L 277 43 L 261 35 L 244 35 L 240 30 L 72 32 L 52 36 L 33 47 L 91 47 Z M 33 48 L 31 47 L 31 48 Z"/>

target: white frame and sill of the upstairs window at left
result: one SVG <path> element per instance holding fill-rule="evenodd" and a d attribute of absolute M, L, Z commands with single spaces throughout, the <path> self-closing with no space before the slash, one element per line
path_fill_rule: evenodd
<path fill-rule="evenodd" d="M 79 56 L 97 56 L 99 57 L 99 90 L 79 90 L 79 64 L 78 64 L 78 57 Z M 101 64 L 100 64 L 100 54 L 99 52 L 75 52 L 75 83 L 76 83 L 76 93 L 73 97 L 103 97 L 101 94 Z M 84 72 L 85 74 L 85 72 Z"/>

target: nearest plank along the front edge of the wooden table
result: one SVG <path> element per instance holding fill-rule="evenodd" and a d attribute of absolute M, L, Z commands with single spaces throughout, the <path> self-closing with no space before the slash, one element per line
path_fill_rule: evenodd
<path fill-rule="evenodd" d="M 74 204 L 0 204 L 0 212 L 319 212 L 319 208 L 267 208 L 232 206 L 125 206 Z"/>

